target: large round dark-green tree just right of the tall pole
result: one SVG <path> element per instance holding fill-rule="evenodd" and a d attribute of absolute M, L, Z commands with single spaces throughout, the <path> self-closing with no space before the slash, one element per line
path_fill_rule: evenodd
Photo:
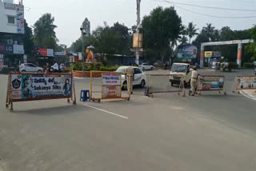
<path fill-rule="evenodd" d="M 158 7 L 142 20 L 145 49 L 151 49 L 160 54 L 160 59 L 170 50 L 170 42 L 177 41 L 182 33 L 182 19 L 174 7 L 163 9 Z M 156 60 L 158 57 L 154 57 Z"/>

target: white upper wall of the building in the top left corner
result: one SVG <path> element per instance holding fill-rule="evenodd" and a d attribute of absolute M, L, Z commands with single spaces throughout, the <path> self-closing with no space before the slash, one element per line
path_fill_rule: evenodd
<path fill-rule="evenodd" d="M 14 24 L 8 23 L 8 15 L 14 16 Z M 0 32 L 10 33 L 10 34 L 18 34 L 17 31 L 17 13 L 16 10 L 5 9 L 4 2 L 0 0 Z"/>

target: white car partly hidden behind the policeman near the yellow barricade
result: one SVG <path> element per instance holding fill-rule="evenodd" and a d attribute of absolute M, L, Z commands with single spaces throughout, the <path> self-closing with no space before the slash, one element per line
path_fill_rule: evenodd
<path fill-rule="evenodd" d="M 120 66 L 116 72 L 126 73 L 129 66 Z M 134 82 L 133 85 L 140 85 L 142 88 L 146 85 L 146 74 L 138 67 L 132 66 L 134 68 Z M 127 79 L 126 75 L 122 74 L 122 89 L 127 89 Z"/>

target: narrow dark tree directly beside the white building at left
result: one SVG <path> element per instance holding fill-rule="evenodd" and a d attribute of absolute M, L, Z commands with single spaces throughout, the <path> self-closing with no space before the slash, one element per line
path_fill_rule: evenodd
<path fill-rule="evenodd" d="M 32 29 L 28 26 L 26 20 L 24 21 L 24 28 L 25 28 L 25 34 L 23 35 L 23 44 L 24 44 L 25 54 L 31 55 L 33 54 L 33 50 L 34 50 L 33 32 L 32 32 Z"/>

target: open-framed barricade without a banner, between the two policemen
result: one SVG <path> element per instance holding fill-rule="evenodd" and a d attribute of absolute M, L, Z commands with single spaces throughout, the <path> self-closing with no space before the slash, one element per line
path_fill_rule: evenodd
<path fill-rule="evenodd" d="M 177 87 L 171 86 L 170 77 L 178 79 Z M 153 97 L 154 93 L 178 93 L 183 97 L 186 96 L 184 76 L 182 74 L 146 74 L 146 78 L 145 96 Z"/>

